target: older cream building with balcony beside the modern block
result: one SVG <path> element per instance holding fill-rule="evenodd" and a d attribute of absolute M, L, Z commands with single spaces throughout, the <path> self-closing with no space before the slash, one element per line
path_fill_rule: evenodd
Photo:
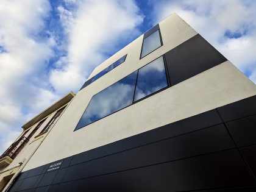
<path fill-rule="evenodd" d="M 74 96 L 70 92 L 22 126 L 21 135 L 0 156 L 0 191 L 37 150 Z"/>

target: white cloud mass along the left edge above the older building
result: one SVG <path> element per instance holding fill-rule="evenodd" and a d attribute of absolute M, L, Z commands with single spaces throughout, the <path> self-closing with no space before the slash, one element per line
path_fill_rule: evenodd
<path fill-rule="evenodd" d="M 52 57 L 54 39 L 35 38 L 44 27 L 51 7 L 46 0 L 2 0 L 0 2 L 0 153 L 22 131 L 23 112 L 40 111 L 56 97 L 44 93 L 45 63 Z M 53 94 L 53 93 L 52 93 Z M 37 101 L 32 104 L 30 101 Z M 44 104 L 47 102 L 47 104 Z"/>

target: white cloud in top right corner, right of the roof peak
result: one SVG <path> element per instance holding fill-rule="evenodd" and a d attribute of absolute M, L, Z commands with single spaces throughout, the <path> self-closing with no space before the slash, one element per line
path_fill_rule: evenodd
<path fill-rule="evenodd" d="M 154 23 L 176 12 L 241 71 L 251 71 L 249 78 L 256 82 L 255 1 L 185 0 L 154 1 L 153 4 Z M 243 36 L 226 37 L 227 30 Z"/>

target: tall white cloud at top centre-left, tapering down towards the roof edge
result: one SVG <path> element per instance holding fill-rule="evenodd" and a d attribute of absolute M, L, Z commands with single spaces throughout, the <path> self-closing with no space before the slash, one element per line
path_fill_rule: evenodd
<path fill-rule="evenodd" d="M 70 3 L 71 1 L 69 1 Z M 74 2 L 73 2 L 74 3 Z M 79 89 L 92 69 L 116 49 L 122 36 L 135 37 L 143 16 L 133 1 L 76 1 L 74 10 L 58 7 L 68 33 L 68 55 L 62 68 L 51 72 L 55 90 Z M 60 66 L 58 64 L 58 66 Z"/>

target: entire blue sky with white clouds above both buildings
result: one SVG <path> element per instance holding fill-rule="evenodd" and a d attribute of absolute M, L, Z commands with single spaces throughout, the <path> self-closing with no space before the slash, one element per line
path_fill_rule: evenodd
<path fill-rule="evenodd" d="M 0 153 L 21 125 L 173 12 L 256 82 L 254 0 L 1 0 Z"/>

